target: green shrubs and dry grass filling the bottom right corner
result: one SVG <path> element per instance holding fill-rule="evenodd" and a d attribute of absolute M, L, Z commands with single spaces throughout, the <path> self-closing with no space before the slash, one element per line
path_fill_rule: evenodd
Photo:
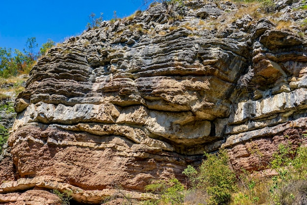
<path fill-rule="evenodd" d="M 267 168 L 276 175 L 251 175 L 243 170 L 238 176 L 240 192 L 234 197 L 234 205 L 307 203 L 307 147 L 296 149 L 290 142 L 279 145 Z"/>

